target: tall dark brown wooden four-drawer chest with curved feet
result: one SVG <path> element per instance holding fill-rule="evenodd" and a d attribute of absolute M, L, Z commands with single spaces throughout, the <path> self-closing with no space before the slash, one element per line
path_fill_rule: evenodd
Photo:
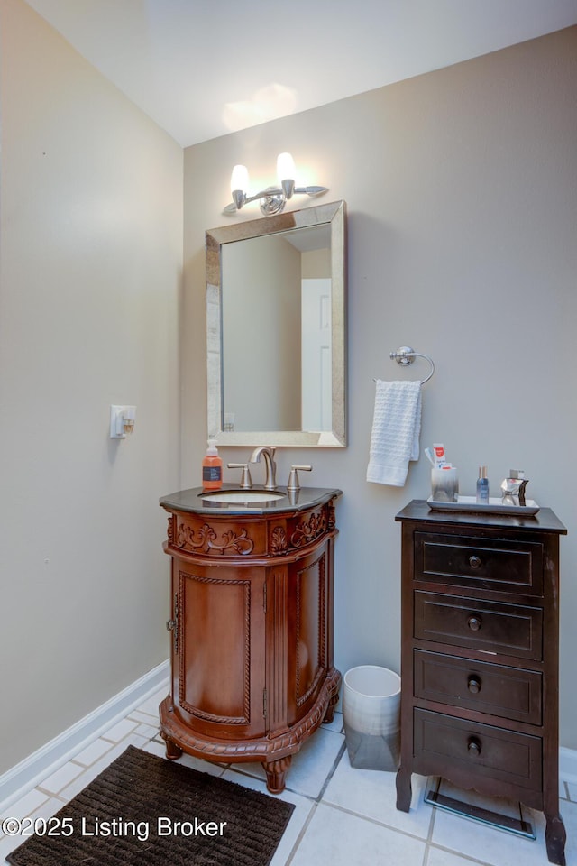
<path fill-rule="evenodd" d="M 402 526 L 401 760 L 411 773 L 510 797 L 545 813 L 549 861 L 564 866 L 559 814 L 559 536 L 535 517 L 431 511 Z"/>

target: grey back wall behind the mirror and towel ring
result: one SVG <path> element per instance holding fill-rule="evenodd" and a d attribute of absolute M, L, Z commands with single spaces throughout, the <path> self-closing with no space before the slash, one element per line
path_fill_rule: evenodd
<path fill-rule="evenodd" d="M 399 528 L 428 495 L 367 484 L 373 377 L 398 378 L 389 351 L 432 355 L 422 446 L 443 441 L 473 493 L 522 468 L 554 508 L 561 539 L 561 740 L 577 748 L 577 509 L 572 446 L 577 321 L 577 29 L 206 142 L 185 151 L 182 486 L 198 484 L 206 440 L 204 231 L 223 225 L 230 171 L 255 189 L 279 152 L 344 198 L 349 214 L 349 447 L 279 453 L 312 463 L 307 484 L 339 486 L 335 654 L 342 670 L 398 669 Z M 262 187 L 261 187 L 262 188 Z M 298 207 L 298 206 L 296 206 Z M 249 213 L 250 210 L 250 213 Z M 260 216 L 247 208 L 246 217 Z M 415 364 L 411 375 L 425 366 Z M 246 456 L 225 449 L 224 461 Z M 255 473 L 255 481 L 261 480 Z"/>

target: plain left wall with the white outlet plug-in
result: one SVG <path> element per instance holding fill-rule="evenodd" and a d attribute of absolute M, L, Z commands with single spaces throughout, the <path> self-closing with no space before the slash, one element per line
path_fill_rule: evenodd
<path fill-rule="evenodd" d="M 182 149 L 29 6 L 0 14 L 1 774 L 167 657 Z"/>

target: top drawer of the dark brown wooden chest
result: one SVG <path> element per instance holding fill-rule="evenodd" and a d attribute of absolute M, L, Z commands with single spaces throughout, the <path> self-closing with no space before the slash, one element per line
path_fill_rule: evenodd
<path fill-rule="evenodd" d="M 416 532 L 415 579 L 542 595 L 543 546 Z"/>

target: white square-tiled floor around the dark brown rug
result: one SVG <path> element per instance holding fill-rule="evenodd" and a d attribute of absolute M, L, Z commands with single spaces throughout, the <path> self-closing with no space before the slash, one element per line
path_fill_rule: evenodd
<path fill-rule="evenodd" d="M 129 743 L 164 757 L 158 732 L 162 690 L 91 742 L 67 764 L 9 807 L 10 816 L 47 818 L 84 788 Z M 266 793 L 260 764 L 221 766 L 188 756 L 189 766 L 221 775 Z M 395 808 L 393 773 L 353 769 L 343 736 L 343 716 L 323 725 L 293 759 L 280 795 L 296 808 L 271 866 L 545 866 L 544 822 L 524 810 L 536 841 L 495 830 L 423 802 L 428 779 L 413 776 L 408 814 Z M 448 792 L 447 792 L 448 793 Z M 567 866 L 577 866 L 577 784 L 560 781 L 561 812 L 567 830 Z M 485 804 L 495 809 L 495 801 Z M 500 808 L 505 811 L 505 808 Z M 0 815 L 4 818 L 7 815 Z M 0 864 L 22 842 L 0 833 Z"/>

